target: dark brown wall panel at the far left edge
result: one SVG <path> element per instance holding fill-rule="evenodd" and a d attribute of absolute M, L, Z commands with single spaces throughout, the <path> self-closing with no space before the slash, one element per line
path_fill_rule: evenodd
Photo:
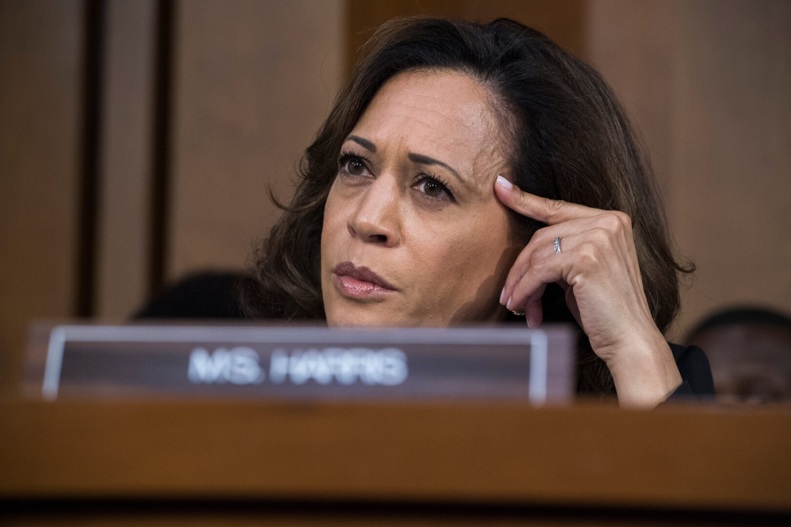
<path fill-rule="evenodd" d="M 0 0 L 0 391 L 28 321 L 76 309 L 83 11 Z"/>

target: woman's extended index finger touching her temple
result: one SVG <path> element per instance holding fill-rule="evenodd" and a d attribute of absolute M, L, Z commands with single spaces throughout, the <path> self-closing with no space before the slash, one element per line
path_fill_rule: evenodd
<path fill-rule="evenodd" d="M 497 176 L 494 183 L 494 194 L 497 194 L 498 199 L 509 209 L 547 225 L 598 216 L 604 212 L 585 205 L 542 198 L 536 194 L 524 192 L 501 175 Z"/>

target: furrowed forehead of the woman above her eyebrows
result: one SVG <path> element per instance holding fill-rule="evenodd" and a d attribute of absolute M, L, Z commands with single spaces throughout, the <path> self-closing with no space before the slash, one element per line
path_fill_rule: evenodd
<path fill-rule="evenodd" d="M 465 73 L 404 72 L 380 88 L 352 134 L 378 149 L 437 157 L 471 173 L 499 152 L 499 128 L 488 88 Z"/>

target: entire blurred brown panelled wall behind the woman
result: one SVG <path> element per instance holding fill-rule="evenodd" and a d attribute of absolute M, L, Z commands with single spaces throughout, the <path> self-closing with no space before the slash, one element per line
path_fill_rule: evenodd
<path fill-rule="evenodd" d="M 611 82 L 698 265 L 676 334 L 791 311 L 789 2 L 0 0 L 0 383 L 33 318 L 242 268 L 358 48 L 415 13 L 513 17 Z"/>

